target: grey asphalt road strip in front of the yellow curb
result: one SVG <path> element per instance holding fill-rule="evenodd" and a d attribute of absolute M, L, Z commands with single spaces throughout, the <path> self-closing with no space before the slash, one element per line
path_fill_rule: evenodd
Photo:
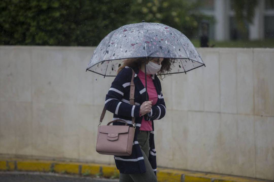
<path fill-rule="evenodd" d="M 118 182 L 119 180 L 109 180 L 104 178 L 80 177 L 76 175 L 62 175 L 54 173 L 41 172 L 18 172 L 8 171 L 0 172 L 1 182 Z"/>

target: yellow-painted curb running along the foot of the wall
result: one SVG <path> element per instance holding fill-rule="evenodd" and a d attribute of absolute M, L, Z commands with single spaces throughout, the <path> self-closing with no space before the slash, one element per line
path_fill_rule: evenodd
<path fill-rule="evenodd" d="M 114 164 L 76 163 L 49 160 L 28 160 L 19 158 L 0 158 L 0 171 L 38 171 L 62 174 L 78 174 L 104 178 L 119 178 Z M 177 169 L 157 168 L 159 182 L 266 182 L 255 178 L 230 175 L 209 174 Z M 269 181 L 270 182 L 270 181 Z"/>

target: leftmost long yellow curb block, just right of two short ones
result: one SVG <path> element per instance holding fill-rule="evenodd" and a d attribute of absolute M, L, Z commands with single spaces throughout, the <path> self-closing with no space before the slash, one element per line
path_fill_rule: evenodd
<path fill-rule="evenodd" d="M 32 161 L 17 161 L 18 171 L 50 171 L 51 163 L 47 162 L 32 162 Z"/>

